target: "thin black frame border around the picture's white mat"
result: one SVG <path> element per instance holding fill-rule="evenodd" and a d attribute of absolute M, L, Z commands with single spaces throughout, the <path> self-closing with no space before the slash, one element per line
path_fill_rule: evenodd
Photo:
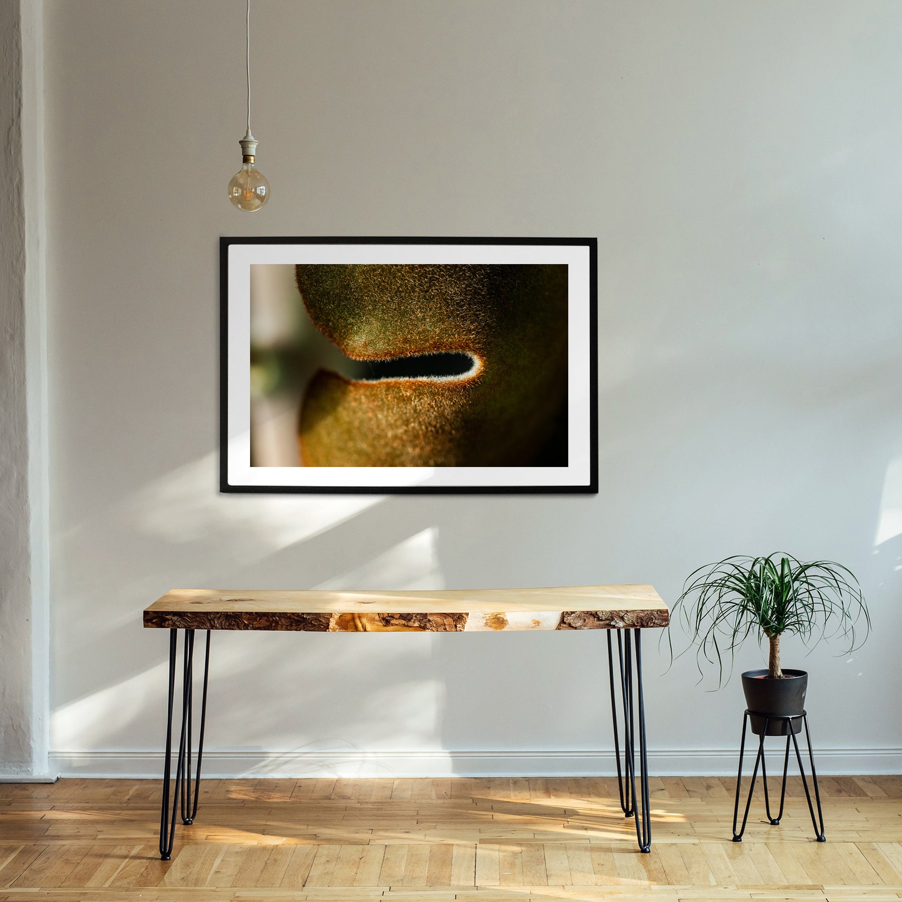
<path fill-rule="evenodd" d="M 535 245 L 585 247 L 588 266 L 589 329 L 589 479 L 574 485 L 247 485 L 229 481 L 229 251 L 235 245 L 257 244 L 446 244 Z M 596 238 L 537 237 L 416 237 L 416 236 L 224 236 L 219 239 L 219 491 L 252 494 L 596 494 L 598 492 L 598 240 Z M 335 469 L 338 469 L 337 467 Z"/>

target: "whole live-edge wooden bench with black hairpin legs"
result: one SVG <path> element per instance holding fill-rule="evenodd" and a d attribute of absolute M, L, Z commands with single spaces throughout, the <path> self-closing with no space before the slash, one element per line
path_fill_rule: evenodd
<path fill-rule="evenodd" d="M 666 627 L 667 605 L 650 585 L 582 585 L 557 589 L 476 589 L 442 592 L 223 592 L 177 589 L 144 610 L 144 626 L 170 630 L 169 714 L 160 815 L 160 857 L 169 861 L 176 815 L 191 824 L 198 814 L 198 787 L 207 720 L 211 630 L 303 630 L 308 632 L 511 632 L 607 630 L 608 676 L 614 757 L 623 814 L 636 819 L 641 851 L 651 848 L 648 750 L 642 695 L 641 630 Z M 175 784 L 170 792 L 172 713 L 179 630 L 184 630 L 181 667 L 181 729 Z M 192 784 L 194 633 L 207 630 L 201 690 L 198 752 Z M 614 666 L 612 633 L 617 637 Z M 623 742 L 617 719 L 620 693 Z M 636 805 L 636 722 L 639 723 L 640 805 Z M 171 809 L 170 809 L 171 796 Z"/>

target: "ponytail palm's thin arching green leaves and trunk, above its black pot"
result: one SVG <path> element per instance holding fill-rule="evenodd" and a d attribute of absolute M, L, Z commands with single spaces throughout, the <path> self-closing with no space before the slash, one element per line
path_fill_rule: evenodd
<path fill-rule="evenodd" d="M 725 659 L 732 667 L 736 649 L 751 635 L 759 642 L 768 638 L 768 676 L 780 679 L 784 633 L 798 636 L 809 648 L 838 635 L 852 651 L 870 631 L 861 586 L 847 567 L 779 552 L 727 557 L 699 567 L 686 579 L 674 614 L 698 647 L 699 672 L 704 661 L 716 664 L 720 684 Z"/>

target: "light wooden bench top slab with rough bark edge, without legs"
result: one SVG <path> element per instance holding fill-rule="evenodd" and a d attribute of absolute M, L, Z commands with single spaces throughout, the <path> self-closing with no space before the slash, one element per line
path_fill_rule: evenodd
<path fill-rule="evenodd" d="M 330 592 L 174 589 L 144 610 L 144 626 L 197 630 L 471 632 L 667 626 L 650 585 L 547 589 Z"/>

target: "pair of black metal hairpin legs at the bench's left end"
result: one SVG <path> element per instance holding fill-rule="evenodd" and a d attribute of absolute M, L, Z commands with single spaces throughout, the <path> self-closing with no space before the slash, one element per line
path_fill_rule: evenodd
<path fill-rule="evenodd" d="M 175 701 L 175 671 L 179 630 L 170 630 L 169 712 L 166 723 L 166 758 L 163 762 L 163 797 L 160 812 L 160 857 L 169 861 L 175 841 L 175 821 L 181 801 L 182 824 L 192 824 L 198 814 L 200 789 L 200 765 L 204 754 L 204 728 L 207 722 L 207 678 L 210 664 L 210 630 L 207 630 L 207 648 L 204 656 L 204 682 L 200 702 L 200 734 L 198 737 L 198 768 L 191 783 L 191 715 L 194 695 L 194 630 L 185 630 L 184 657 L 181 682 L 181 731 L 179 756 L 176 759 L 175 792 L 170 814 L 170 777 L 172 767 L 172 713 Z"/>

